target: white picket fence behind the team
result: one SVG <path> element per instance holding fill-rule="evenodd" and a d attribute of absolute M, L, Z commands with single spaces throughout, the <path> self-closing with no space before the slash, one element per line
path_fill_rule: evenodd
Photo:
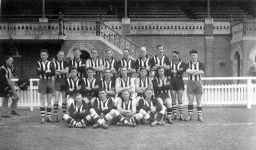
<path fill-rule="evenodd" d="M 187 80 L 187 78 L 184 78 L 184 80 Z M 256 80 L 256 77 L 217 77 L 202 78 L 202 80 L 247 80 L 247 84 L 203 85 L 203 105 L 218 106 L 245 104 L 247 105 L 247 108 L 251 108 L 251 104 L 256 104 L 256 84 L 251 83 L 251 80 Z M 18 79 L 12 79 L 12 81 L 18 82 Z M 28 87 L 28 90 L 20 90 L 18 86 L 15 86 L 15 89 L 20 96 L 18 106 L 30 106 L 30 110 L 34 110 L 34 106 L 40 106 L 38 86 L 34 86 L 33 84 L 38 81 L 39 79 L 30 79 L 30 87 Z M 189 103 L 186 93 L 187 85 L 185 85 L 185 91 L 183 92 L 183 102 L 185 105 Z M 9 103 L 10 102 L 11 100 L 9 100 Z M 59 105 L 61 106 L 61 100 Z"/>

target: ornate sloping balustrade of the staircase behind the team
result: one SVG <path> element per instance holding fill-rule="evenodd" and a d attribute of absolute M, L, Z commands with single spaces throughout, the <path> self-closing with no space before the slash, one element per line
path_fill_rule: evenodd
<path fill-rule="evenodd" d="M 133 58 L 138 58 L 139 57 L 139 48 L 137 44 L 126 38 L 124 35 L 119 33 L 118 31 L 115 31 L 112 27 L 106 25 L 101 20 L 98 20 L 100 23 L 100 36 L 104 38 L 105 40 L 108 40 L 108 42 L 114 44 L 121 50 L 124 48 L 128 48 L 130 50 L 130 55 L 133 56 Z M 153 55 L 148 53 L 150 57 Z"/>

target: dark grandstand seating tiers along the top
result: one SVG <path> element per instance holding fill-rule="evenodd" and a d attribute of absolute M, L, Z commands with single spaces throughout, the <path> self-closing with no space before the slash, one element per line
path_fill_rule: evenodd
<path fill-rule="evenodd" d="M 6 2 L 6 3 L 5 3 Z M 14 0 L 1 2 L 1 21 L 38 21 L 42 15 L 41 1 Z M 186 2 L 186 3 L 185 3 Z M 128 3 L 128 16 L 131 19 L 203 19 L 207 17 L 207 3 L 189 1 L 131 1 Z M 4 5 L 3 5 L 4 4 Z M 110 5 L 113 10 L 110 11 Z M 252 3 L 252 5 L 255 5 Z M 252 6 L 253 7 L 253 6 Z M 121 19 L 124 16 L 123 1 L 46 1 L 45 14 L 51 19 L 58 19 L 58 12 L 64 13 L 65 19 Z M 255 18 L 255 10 L 240 3 L 211 3 L 210 16 L 214 19 L 241 21 Z"/>

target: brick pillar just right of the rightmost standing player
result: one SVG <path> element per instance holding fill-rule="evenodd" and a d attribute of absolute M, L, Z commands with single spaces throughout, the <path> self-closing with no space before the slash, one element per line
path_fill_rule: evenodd
<path fill-rule="evenodd" d="M 214 76 L 214 19 L 205 18 L 205 76 Z"/>

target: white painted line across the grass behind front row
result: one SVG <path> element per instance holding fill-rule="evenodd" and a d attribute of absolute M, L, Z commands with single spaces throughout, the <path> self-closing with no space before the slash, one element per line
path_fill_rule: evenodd
<path fill-rule="evenodd" d="M 169 125 L 169 124 L 165 124 L 165 125 Z M 189 124 L 179 124 L 179 123 L 174 123 L 173 125 L 177 125 L 177 126 L 208 126 L 208 125 L 256 125 L 256 123 L 189 123 Z M 170 126 L 173 126 L 170 125 Z M 16 126 L 17 127 L 17 126 Z M 58 125 L 21 125 L 20 127 L 36 127 L 36 128 L 42 128 L 42 127 L 46 127 L 46 128 L 59 128 L 59 127 L 63 127 L 63 126 L 58 126 Z M 0 128 L 9 128 L 9 126 L 7 125 L 0 125 Z"/>

